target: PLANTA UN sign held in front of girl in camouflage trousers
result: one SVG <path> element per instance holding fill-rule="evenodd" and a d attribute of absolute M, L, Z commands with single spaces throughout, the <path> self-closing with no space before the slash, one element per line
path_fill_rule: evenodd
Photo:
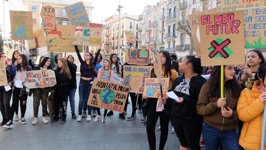
<path fill-rule="evenodd" d="M 27 88 L 41 88 L 56 85 L 56 78 L 53 70 L 42 69 L 26 72 L 24 85 Z"/>

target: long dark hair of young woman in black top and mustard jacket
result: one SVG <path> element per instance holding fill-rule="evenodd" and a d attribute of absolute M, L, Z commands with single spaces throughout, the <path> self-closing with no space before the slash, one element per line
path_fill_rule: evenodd
<path fill-rule="evenodd" d="M 170 57 L 170 53 L 168 51 L 160 51 L 160 53 L 163 53 L 165 59 L 166 59 L 166 62 L 164 64 L 164 76 L 165 78 L 170 78 L 171 75 L 172 75 L 172 72 L 171 72 L 171 69 L 174 69 L 173 66 L 172 66 L 172 62 L 171 62 L 171 57 Z M 161 61 L 161 60 L 159 60 Z M 163 66 L 162 66 L 163 67 Z M 169 76 L 168 76 L 169 74 Z M 157 76 L 155 75 L 154 73 L 154 68 L 151 69 L 151 78 L 156 78 Z"/>

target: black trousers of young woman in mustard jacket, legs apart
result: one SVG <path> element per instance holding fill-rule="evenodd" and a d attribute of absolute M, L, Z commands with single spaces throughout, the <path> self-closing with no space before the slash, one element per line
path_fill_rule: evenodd
<path fill-rule="evenodd" d="M 155 136 L 154 130 L 155 130 L 156 122 L 159 117 L 160 117 L 160 125 L 161 125 L 159 150 L 164 149 L 164 145 L 167 141 L 167 136 L 168 136 L 169 116 L 165 114 L 165 110 L 163 110 L 162 112 L 156 112 L 157 100 L 158 98 L 151 98 L 150 104 L 148 107 L 146 132 L 148 136 L 150 150 L 156 149 L 156 136 Z"/>

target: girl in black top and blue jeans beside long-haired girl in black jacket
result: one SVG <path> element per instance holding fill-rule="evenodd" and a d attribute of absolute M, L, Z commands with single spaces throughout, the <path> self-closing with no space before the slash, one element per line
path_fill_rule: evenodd
<path fill-rule="evenodd" d="M 71 108 L 71 114 L 72 114 L 72 119 L 76 119 L 77 116 L 75 114 L 75 93 L 77 89 L 77 79 L 76 79 L 76 71 L 77 71 L 77 65 L 74 64 L 74 57 L 72 55 L 64 56 L 66 59 L 68 68 L 71 73 L 71 79 L 70 79 L 70 87 L 69 87 L 69 93 L 66 94 L 66 108 L 67 108 L 67 103 L 68 103 L 68 98 L 69 98 L 69 103 L 70 103 L 70 108 Z"/>

